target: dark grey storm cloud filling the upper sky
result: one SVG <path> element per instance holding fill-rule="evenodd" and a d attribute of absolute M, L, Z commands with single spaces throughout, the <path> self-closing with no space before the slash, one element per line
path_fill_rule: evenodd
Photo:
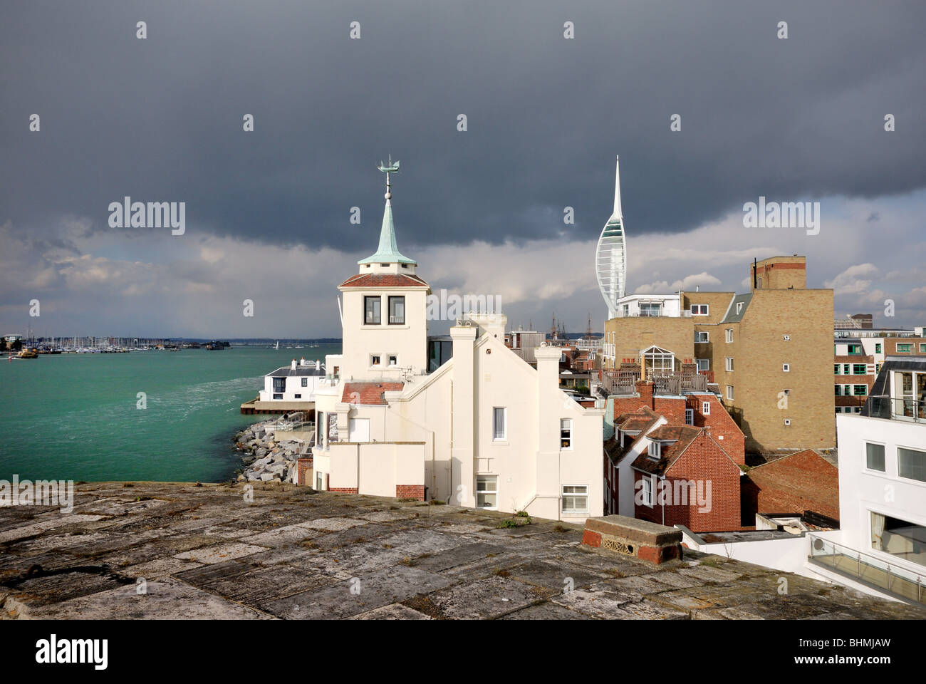
<path fill-rule="evenodd" d="M 11 3 L 0 222 L 111 230 L 128 195 L 186 201 L 216 234 L 353 249 L 390 152 L 407 248 L 554 235 L 565 206 L 591 238 L 616 153 L 638 233 L 759 195 L 905 193 L 926 185 L 924 26 L 921 2 Z"/>

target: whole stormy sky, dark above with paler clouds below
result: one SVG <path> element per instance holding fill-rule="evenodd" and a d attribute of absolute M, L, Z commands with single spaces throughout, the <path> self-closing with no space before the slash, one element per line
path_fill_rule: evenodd
<path fill-rule="evenodd" d="M 601 329 L 616 154 L 629 292 L 799 253 L 837 317 L 923 324 L 924 28 L 921 2 L 7 3 L 0 332 L 340 336 L 390 153 L 401 250 L 515 325 Z M 110 227 L 124 196 L 186 232 Z M 820 234 L 745 228 L 759 196 L 819 201 Z"/>

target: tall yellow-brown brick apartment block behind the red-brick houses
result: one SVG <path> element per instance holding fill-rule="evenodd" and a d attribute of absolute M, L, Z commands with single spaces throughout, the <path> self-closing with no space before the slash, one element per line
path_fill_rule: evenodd
<path fill-rule="evenodd" d="M 743 295 L 682 291 L 621 299 L 629 306 L 606 323 L 606 366 L 632 362 L 645 373 L 657 363 L 681 372 L 694 363 L 717 384 L 747 451 L 831 449 L 832 289 L 807 289 L 806 261 L 795 255 L 750 264 L 752 286 Z M 644 310 L 646 300 L 662 306 Z"/>

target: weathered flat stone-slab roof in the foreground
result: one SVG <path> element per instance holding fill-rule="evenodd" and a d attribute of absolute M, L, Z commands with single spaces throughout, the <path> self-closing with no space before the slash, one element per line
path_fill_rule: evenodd
<path fill-rule="evenodd" d="M 581 526 L 506 528 L 503 513 L 294 485 L 252 493 L 96 483 L 76 488 L 70 513 L 0 508 L 0 616 L 926 617 L 802 576 L 780 595 L 786 573 L 722 556 L 686 550 L 654 565 L 588 550 Z"/>

